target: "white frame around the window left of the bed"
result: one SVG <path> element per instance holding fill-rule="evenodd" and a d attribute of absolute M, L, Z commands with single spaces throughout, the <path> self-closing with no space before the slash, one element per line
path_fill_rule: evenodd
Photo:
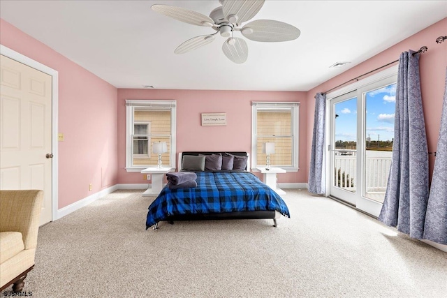
<path fill-rule="evenodd" d="M 126 99 L 126 171 L 127 172 L 140 172 L 147 168 L 147 165 L 133 165 L 133 117 L 135 114 L 135 108 L 150 108 L 150 110 L 170 110 L 170 164 L 163 165 L 165 167 L 175 168 L 176 157 L 176 100 L 130 100 Z M 137 121 L 142 123 L 142 121 Z M 149 139 L 149 137 L 148 137 Z M 148 140 L 149 142 L 149 140 Z M 151 148 L 151 144 L 148 144 L 148 151 Z M 149 153 L 149 152 L 148 152 Z M 137 156 L 135 156 L 137 157 Z M 147 157 L 146 157 L 147 158 Z"/>

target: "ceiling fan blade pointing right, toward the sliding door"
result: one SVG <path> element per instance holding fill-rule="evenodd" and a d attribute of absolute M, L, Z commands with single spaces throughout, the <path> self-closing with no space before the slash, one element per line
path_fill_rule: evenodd
<path fill-rule="evenodd" d="M 274 20 L 256 20 L 241 29 L 243 36 L 255 41 L 277 42 L 294 40 L 301 31 L 291 24 Z"/>

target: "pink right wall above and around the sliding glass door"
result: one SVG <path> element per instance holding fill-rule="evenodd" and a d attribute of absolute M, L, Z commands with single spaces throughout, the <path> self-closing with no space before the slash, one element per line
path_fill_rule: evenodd
<path fill-rule="evenodd" d="M 353 79 L 358 75 L 388 64 L 399 59 L 402 52 L 419 50 L 426 45 L 428 51 L 420 54 L 420 86 L 422 91 L 423 110 L 425 116 L 425 128 L 427 131 L 428 151 L 436 151 L 439 137 L 439 126 L 441 124 L 442 102 L 444 98 L 444 84 L 447 66 L 447 43 L 438 44 L 435 40 L 439 36 L 445 36 L 447 29 L 447 18 L 441 20 L 426 29 L 402 40 L 393 47 L 377 54 L 362 64 L 346 70 L 341 75 L 328 80 L 323 84 L 307 92 L 307 164 L 310 163 L 310 148 L 312 147 L 312 130 L 314 128 L 315 99 L 317 92 L 324 92 L 343 82 Z M 397 65 L 397 63 L 395 64 Z M 429 156 L 430 179 L 432 177 L 434 157 Z"/>

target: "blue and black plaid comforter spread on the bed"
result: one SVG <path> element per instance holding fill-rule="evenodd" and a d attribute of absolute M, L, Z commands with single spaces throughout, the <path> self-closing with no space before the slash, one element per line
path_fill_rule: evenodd
<path fill-rule="evenodd" d="M 290 217 L 281 197 L 251 172 L 196 172 L 196 188 L 163 188 L 150 204 L 146 229 L 168 216 L 276 210 Z"/>

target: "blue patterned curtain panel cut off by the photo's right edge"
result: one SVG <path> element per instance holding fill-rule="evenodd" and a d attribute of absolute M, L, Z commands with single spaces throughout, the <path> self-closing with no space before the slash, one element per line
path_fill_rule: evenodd
<path fill-rule="evenodd" d="M 425 215 L 424 239 L 447 244 L 447 73 L 436 151 L 432 186 Z"/>

